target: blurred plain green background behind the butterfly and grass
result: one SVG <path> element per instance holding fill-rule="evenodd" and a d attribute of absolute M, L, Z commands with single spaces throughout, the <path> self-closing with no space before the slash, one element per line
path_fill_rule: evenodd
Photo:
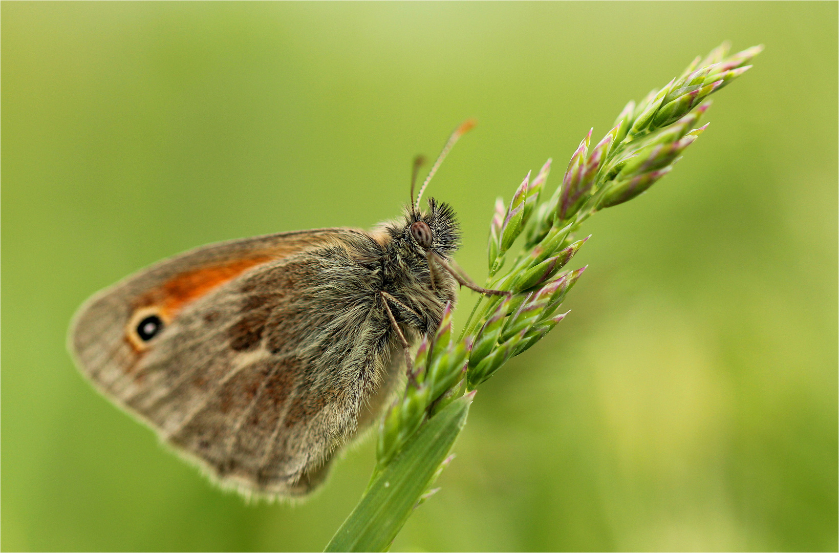
<path fill-rule="evenodd" d="M 200 244 L 393 217 L 466 117 L 430 194 L 481 280 L 496 196 L 549 156 L 553 190 L 723 39 L 766 50 L 586 223 L 571 316 L 482 387 L 393 550 L 836 550 L 835 2 L 2 10 L 3 550 L 320 550 L 370 441 L 309 502 L 245 504 L 81 378 L 76 307 Z"/>

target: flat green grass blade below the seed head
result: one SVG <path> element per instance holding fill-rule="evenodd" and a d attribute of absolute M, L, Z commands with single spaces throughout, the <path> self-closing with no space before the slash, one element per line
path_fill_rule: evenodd
<path fill-rule="evenodd" d="M 472 394 L 457 399 L 417 431 L 399 456 L 373 478 L 325 551 L 388 549 L 449 454 L 471 403 Z"/>

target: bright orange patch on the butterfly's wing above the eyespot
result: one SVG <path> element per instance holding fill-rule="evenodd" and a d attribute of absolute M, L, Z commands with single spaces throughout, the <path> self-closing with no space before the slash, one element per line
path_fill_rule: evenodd
<path fill-rule="evenodd" d="M 185 304 L 197 300 L 217 286 L 235 279 L 246 270 L 274 258 L 276 256 L 237 259 L 186 271 L 169 279 L 159 288 L 143 295 L 138 302 L 138 307 L 159 305 L 164 317 L 171 321 Z"/>

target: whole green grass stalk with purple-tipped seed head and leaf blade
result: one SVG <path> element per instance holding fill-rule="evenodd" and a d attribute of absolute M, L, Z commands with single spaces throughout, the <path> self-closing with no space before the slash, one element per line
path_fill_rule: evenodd
<path fill-rule="evenodd" d="M 697 126 L 711 105 L 707 98 L 743 75 L 761 50 L 754 46 L 727 55 L 722 44 L 706 58 L 697 57 L 642 102 L 629 102 L 593 148 L 590 130 L 550 198 L 542 199 L 549 159 L 533 180 L 530 174 L 524 178 L 508 204 L 498 200 L 489 229 L 486 287 L 508 294 L 482 296 L 458 337 L 451 305 L 446 306 L 435 335 L 417 349 L 404 395 L 383 416 L 367 490 L 326 550 L 388 549 L 413 509 L 434 493 L 431 487 L 451 461 L 477 386 L 567 315 L 560 305 L 586 269 L 563 271 L 586 242 L 575 238 L 581 223 L 667 175 L 707 128 Z"/>

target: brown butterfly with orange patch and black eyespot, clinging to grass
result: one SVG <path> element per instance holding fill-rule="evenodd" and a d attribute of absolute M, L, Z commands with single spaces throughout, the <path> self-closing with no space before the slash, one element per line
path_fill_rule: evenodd
<path fill-rule="evenodd" d="M 214 243 L 87 300 L 70 326 L 81 372 L 218 483 L 305 496 L 388 404 L 410 347 L 435 331 L 458 284 L 455 212 L 420 200 L 371 232 L 322 228 Z"/>

